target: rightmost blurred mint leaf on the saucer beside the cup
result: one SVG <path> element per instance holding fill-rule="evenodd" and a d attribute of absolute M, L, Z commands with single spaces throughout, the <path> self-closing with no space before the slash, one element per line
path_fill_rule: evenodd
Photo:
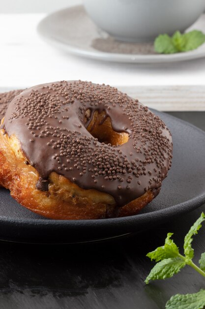
<path fill-rule="evenodd" d="M 193 30 L 184 34 L 186 41 L 182 51 L 193 50 L 202 45 L 205 42 L 205 34 L 198 30 Z"/>

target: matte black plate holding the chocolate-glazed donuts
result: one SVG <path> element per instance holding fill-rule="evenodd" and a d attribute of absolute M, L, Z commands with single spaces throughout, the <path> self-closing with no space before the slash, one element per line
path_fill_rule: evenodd
<path fill-rule="evenodd" d="M 205 202 L 205 132 L 157 111 L 173 134 L 174 157 L 160 194 L 136 216 L 102 220 L 49 220 L 0 189 L 0 239 L 29 243 L 75 243 L 110 239 L 163 223 Z"/>

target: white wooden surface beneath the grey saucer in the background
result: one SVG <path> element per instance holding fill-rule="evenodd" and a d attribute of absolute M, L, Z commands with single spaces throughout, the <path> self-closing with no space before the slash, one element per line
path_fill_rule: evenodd
<path fill-rule="evenodd" d="M 133 65 L 71 56 L 38 37 L 36 26 L 44 16 L 0 14 L 0 87 L 25 88 L 62 79 L 91 80 L 115 85 L 160 110 L 205 110 L 205 59 Z"/>

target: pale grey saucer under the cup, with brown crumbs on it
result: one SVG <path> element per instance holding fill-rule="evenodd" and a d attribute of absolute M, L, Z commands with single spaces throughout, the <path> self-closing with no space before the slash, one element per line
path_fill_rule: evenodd
<path fill-rule="evenodd" d="M 188 30 L 205 32 L 205 14 Z M 39 35 L 64 51 L 87 58 L 122 63 L 163 63 L 205 57 L 205 44 L 189 52 L 155 54 L 152 43 L 119 42 L 97 29 L 82 5 L 72 6 L 45 17 Z"/>

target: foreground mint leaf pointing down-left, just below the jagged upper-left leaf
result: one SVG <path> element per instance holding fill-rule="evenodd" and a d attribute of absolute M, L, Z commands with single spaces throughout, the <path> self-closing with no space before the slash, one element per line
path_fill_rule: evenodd
<path fill-rule="evenodd" d="M 157 263 L 146 277 L 145 283 L 149 280 L 166 279 L 180 271 L 186 263 L 181 258 L 170 258 Z"/>

